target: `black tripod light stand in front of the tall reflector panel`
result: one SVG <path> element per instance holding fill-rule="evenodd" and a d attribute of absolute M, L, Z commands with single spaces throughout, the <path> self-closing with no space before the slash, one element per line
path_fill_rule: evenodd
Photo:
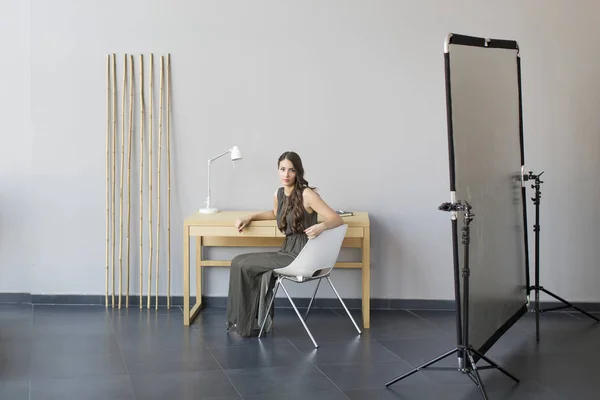
<path fill-rule="evenodd" d="M 519 382 L 517 378 L 512 376 L 498 364 L 490 360 L 488 357 L 484 356 L 479 351 L 475 350 L 473 346 L 469 343 L 469 242 L 470 242 L 470 228 L 469 224 L 473 220 L 474 214 L 471 213 L 471 205 L 464 201 L 458 201 L 453 203 L 443 203 L 439 206 L 439 209 L 442 211 L 449 211 L 452 213 L 452 240 L 454 243 L 454 249 L 458 249 L 457 237 L 456 237 L 456 216 L 458 211 L 464 211 L 464 226 L 462 227 L 462 244 L 464 247 L 464 266 L 462 269 L 462 280 L 463 280 L 463 290 L 464 290 L 464 301 L 462 303 L 462 316 L 461 318 L 461 302 L 460 302 L 460 287 L 459 287 L 459 268 L 458 268 L 458 252 L 454 252 L 454 290 L 456 297 L 456 329 L 457 329 L 457 346 L 442 354 L 439 357 L 434 358 L 431 361 L 426 362 L 425 364 L 413 369 L 405 373 L 402 376 L 399 376 L 388 383 L 385 386 L 390 386 L 401 379 L 404 379 L 420 370 L 429 369 L 429 370 L 441 370 L 441 371 L 458 371 L 460 373 L 466 374 L 474 383 L 477 385 L 479 390 L 481 390 L 481 394 L 484 399 L 487 400 L 487 394 L 485 392 L 485 388 L 483 387 L 483 382 L 481 377 L 479 376 L 479 370 L 484 369 L 498 369 L 506 376 L 514 380 L 515 382 Z M 462 332 L 462 333 L 461 333 Z M 458 368 L 453 367 L 429 367 L 432 364 L 435 364 L 438 361 L 443 360 L 444 358 L 458 353 Z M 478 358 L 481 358 L 487 361 L 490 365 L 477 367 L 475 365 L 474 355 Z"/>

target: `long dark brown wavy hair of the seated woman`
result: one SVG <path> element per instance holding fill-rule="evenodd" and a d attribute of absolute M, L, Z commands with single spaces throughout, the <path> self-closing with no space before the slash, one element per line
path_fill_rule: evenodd
<path fill-rule="evenodd" d="M 287 229 L 287 215 L 292 213 L 292 232 L 302 233 L 305 228 L 303 225 L 304 221 L 304 204 L 302 193 L 304 189 L 309 188 L 316 190 L 315 187 L 309 186 L 308 181 L 304 178 L 304 167 L 302 166 L 302 160 L 300 156 L 293 151 L 286 151 L 277 160 L 277 168 L 283 160 L 289 160 L 294 169 L 296 170 L 296 181 L 294 184 L 294 190 L 290 194 L 289 198 L 286 198 L 283 204 L 283 216 L 279 223 L 279 230 L 285 233 Z"/>

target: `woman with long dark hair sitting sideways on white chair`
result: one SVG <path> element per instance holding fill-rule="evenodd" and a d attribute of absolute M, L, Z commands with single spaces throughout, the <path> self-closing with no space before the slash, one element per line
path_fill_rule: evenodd
<path fill-rule="evenodd" d="M 272 271 L 290 265 L 309 239 L 343 224 L 342 218 L 304 179 L 304 168 L 298 154 L 292 151 L 283 153 L 277 165 L 283 186 L 275 192 L 273 210 L 235 222 L 236 228 L 242 232 L 251 221 L 276 219 L 279 230 L 285 232 L 279 251 L 241 254 L 231 261 L 227 329 L 236 330 L 242 337 L 258 335 L 259 321 L 263 320 L 273 295 L 275 279 Z M 317 223 L 318 215 L 323 216 L 323 222 Z M 273 311 L 265 323 L 265 332 L 269 332 L 272 318 Z"/>

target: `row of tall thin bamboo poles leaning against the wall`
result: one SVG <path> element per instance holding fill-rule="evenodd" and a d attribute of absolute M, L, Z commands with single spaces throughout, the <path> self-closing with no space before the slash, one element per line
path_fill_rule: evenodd
<path fill-rule="evenodd" d="M 159 305 L 159 276 L 161 276 L 160 265 L 160 233 L 161 233 L 161 176 L 163 154 L 163 131 L 166 130 L 166 167 L 167 167 L 167 307 L 171 307 L 171 55 L 166 56 L 166 72 L 165 72 L 165 56 L 160 56 L 160 88 L 159 88 L 159 114 L 158 114 L 158 161 L 156 165 L 153 160 L 154 127 L 156 125 L 154 115 L 154 54 L 149 57 L 149 79 L 148 92 L 145 91 L 144 80 L 144 57 L 139 55 L 139 64 L 136 67 L 139 69 L 139 82 L 137 82 L 137 94 L 139 96 L 139 106 L 135 109 L 134 94 L 136 93 L 136 82 L 134 74 L 134 56 L 125 54 L 122 58 L 122 86 L 117 86 L 117 56 L 109 54 L 107 56 L 106 65 L 106 285 L 105 285 L 105 306 L 109 306 L 109 283 L 112 278 L 112 307 L 122 307 L 123 297 L 125 297 L 125 307 L 130 304 L 130 288 L 131 288 L 131 242 L 132 242 L 132 226 L 131 226 L 131 158 L 132 151 L 137 150 L 139 159 L 139 306 L 144 305 L 144 233 L 147 235 L 147 286 L 146 286 L 146 306 L 152 306 L 152 268 L 154 267 L 154 283 L 155 283 L 155 308 Z M 165 89 L 166 86 L 166 89 Z M 117 93 L 121 91 L 121 103 L 117 102 Z M 127 96 L 128 94 L 128 96 Z M 163 107 L 163 99 L 166 97 L 166 105 Z M 146 98 L 149 99 L 149 107 L 146 110 Z M 120 132 L 117 128 L 120 112 Z M 134 110 L 136 118 L 134 118 Z M 126 117 L 127 112 L 127 117 Z M 146 120 L 148 114 L 148 121 Z M 165 127 L 163 128 L 163 115 L 166 117 Z M 138 120 L 136 124 L 135 121 Z M 136 126 L 137 125 L 137 126 Z M 147 127 L 147 129 L 146 129 Z M 127 128 L 127 129 L 126 129 Z M 137 128 L 137 129 L 136 129 Z M 133 138 L 139 135 L 139 146 L 133 149 Z M 147 135 L 147 147 L 145 147 L 144 139 Z M 125 137 L 127 136 L 127 145 Z M 120 140 L 119 140 L 120 139 Z M 120 146 L 119 142 L 120 141 Z M 120 149 L 120 159 L 117 160 L 117 147 Z M 127 177 L 125 179 L 125 151 L 127 150 Z M 147 166 L 144 165 L 145 155 L 148 156 Z M 119 191 L 116 190 L 116 171 L 117 163 L 120 161 L 119 168 Z M 157 170 L 157 190 L 153 193 L 153 169 Z M 147 168 L 146 179 L 144 179 Z M 124 193 L 124 184 L 126 192 Z M 147 232 L 144 232 L 144 187 L 147 185 Z M 115 206 L 117 197 L 119 198 L 118 209 Z M 156 198 L 156 206 L 153 206 L 153 199 Z M 123 209 L 123 199 L 127 199 L 127 208 Z M 125 212 L 124 212 L 125 211 Z M 154 227 L 153 214 L 156 212 L 156 227 Z M 117 224 L 117 215 L 119 221 Z M 127 223 L 123 226 L 123 216 L 126 215 Z M 116 232 L 116 227 L 119 226 L 119 231 Z M 156 231 L 154 231 L 156 229 Z M 164 227 L 163 227 L 164 229 Z M 156 236 L 156 248 L 153 248 Z M 123 244 L 123 238 L 126 238 L 126 243 Z M 116 271 L 116 242 L 118 238 L 118 271 Z M 123 250 L 125 249 L 125 257 Z M 125 269 L 125 270 L 124 270 Z M 123 289 L 123 274 L 125 273 L 125 292 Z M 118 278 L 118 293 L 115 291 L 115 277 Z M 124 296 L 123 296 L 124 295 Z M 118 299 L 118 302 L 116 301 Z"/>

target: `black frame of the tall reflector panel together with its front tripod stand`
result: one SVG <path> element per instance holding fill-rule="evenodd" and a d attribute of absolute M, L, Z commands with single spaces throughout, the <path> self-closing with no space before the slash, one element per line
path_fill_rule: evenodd
<path fill-rule="evenodd" d="M 517 76 L 518 76 L 518 98 L 519 98 L 519 141 L 521 147 L 521 174 L 515 179 L 521 181 L 521 199 L 523 207 L 523 234 L 524 234 L 524 250 L 525 250 L 525 279 L 526 286 L 523 288 L 526 293 L 527 299 L 525 300 L 522 307 L 520 307 L 515 314 L 513 314 L 506 322 L 496 330 L 496 332 L 479 348 L 473 348 L 469 342 L 468 335 L 468 321 L 469 321 L 469 223 L 474 218 L 474 214 L 471 213 L 471 206 L 465 201 L 456 200 L 456 187 L 455 187 L 455 157 L 454 157 L 454 136 L 453 136 L 453 125 L 452 125 L 452 97 L 451 97 L 451 83 L 450 83 L 450 52 L 449 45 L 463 45 L 463 46 L 476 46 L 484 48 L 503 48 L 517 51 Z M 523 140 L 523 107 L 522 107 L 522 89 L 521 89 L 521 61 L 519 55 L 518 43 L 514 40 L 502 40 L 502 39 L 487 39 L 475 36 L 461 35 L 461 34 L 450 34 L 448 35 L 444 48 L 444 64 L 445 64 L 445 79 L 446 79 L 446 115 L 447 115 L 447 130 L 448 130 L 448 156 L 449 156 L 449 167 L 450 167 L 450 194 L 451 202 L 443 203 L 439 209 L 442 211 L 451 213 L 452 220 L 452 249 L 453 249 L 453 264 L 454 264 L 454 296 L 456 304 L 456 336 L 457 346 L 420 365 L 419 367 L 399 376 L 388 383 L 386 386 L 390 386 L 401 379 L 404 379 L 420 370 L 454 370 L 466 374 L 481 390 L 481 394 L 484 399 L 487 399 L 486 391 L 483 387 L 483 382 L 479 376 L 478 370 L 483 369 L 498 369 L 509 378 L 513 379 L 517 383 L 519 380 L 513 375 L 508 373 L 497 363 L 486 357 L 484 354 L 492 347 L 492 345 L 514 325 L 523 315 L 527 313 L 528 309 L 528 293 L 530 288 L 530 277 L 529 277 L 529 243 L 527 235 L 527 202 L 526 202 L 526 190 L 523 186 L 523 166 L 525 165 L 524 156 L 524 140 Z M 457 215 L 459 212 L 464 213 L 464 226 L 462 228 L 462 244 L 464 246 L 464 260 L 463 268 L 461 270 L 459 266 L 459 241 L 458 241 L 458 223 Z M 460 281 L 463 280 L 463 290 L 465 301 L 461 300 L 460 293 Z M 433 368 L 430 365 L 441 361 L 442 359 L 458 353 L 458 368 L 451 367 L 438 367 Z M 490 365 L 479 366 L 475 364 L 480 359 L 488 362 Z"/>

